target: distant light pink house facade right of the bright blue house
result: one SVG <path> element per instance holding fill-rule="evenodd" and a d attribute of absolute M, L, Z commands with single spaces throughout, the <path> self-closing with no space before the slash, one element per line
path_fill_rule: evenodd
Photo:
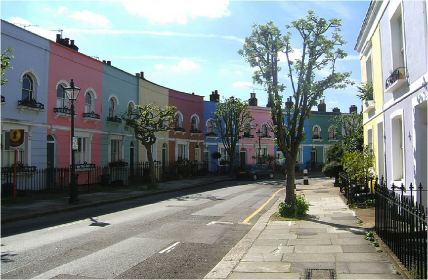
<path fill-rule="evenodd" d="M 261 155 L 266 156 L 275 156 L 275 146 L 274 146 L 274 133 L 270 128 L 271 117 L 270 109 L 267 107 L 259 106 L 248 106 L 249 110 L 253 114 L 253 120 L 251 122 L 251 129 L 249 135 L 243 134 L 240 135 L 242 138 L 239 140 L 239 151 L 241 164 L 253 164 L 257 162 L 257 155 L 259 147 L 261 148 Z M 263 127 L 267 128 L 267 131 L 263 131 Z M 260 145 L 257 137 L 257 130 L 263 132 L 262 137 L 260 138 Z M 270 136 L 270 138 L 269 138 Z M 244 161 L 245 160 L 245 161 Z M 267 163 L 267 162 L 266 162 Z M 264 164 L 264 162 L 263 162 Z"/>

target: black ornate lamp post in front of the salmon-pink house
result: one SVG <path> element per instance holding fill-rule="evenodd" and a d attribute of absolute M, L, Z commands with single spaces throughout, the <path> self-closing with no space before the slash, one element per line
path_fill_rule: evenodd
<path fill-rule="evenodd" d="M 71 79 L 70 85 L 65 87 L 64 90 L 69 96 L 70 99 L 70 114 L 71 114 L 71 176 L 70 176 L 70 199 L 69 203 L 78 203 L 78 181 L 76 176 L 76 166 L 74 163 L 74 151 L 78 149 L 77 147 L 77 138 L 74 137 L 74 102 L 80 93 L 80 88 L 74 85 L 73 79 Z"/>

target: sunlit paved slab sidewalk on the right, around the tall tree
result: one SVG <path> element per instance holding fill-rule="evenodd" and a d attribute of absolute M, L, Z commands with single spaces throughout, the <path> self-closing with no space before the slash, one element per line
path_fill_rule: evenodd
<path fill-rule="evenodd" d="M 307 218 L 272 220 L 281 198 L 205 279 L 404 279 L 365 240 L 332 180 L 312 179 L 297 191 L 310 204 Z"/>

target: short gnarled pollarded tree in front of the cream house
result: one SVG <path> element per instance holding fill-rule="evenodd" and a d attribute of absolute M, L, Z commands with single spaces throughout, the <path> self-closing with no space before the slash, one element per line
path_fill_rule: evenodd
<path fill-rule="evenodd" d="M 171 129 L 176 109 L 174 106 L 161 108 L 151 103 L 144 106 L 137 105 L 135 110 L 128 109 L 122 114 L 122 120 L 126 123 L 125 128 L 133 130 L 135 138 L 146 148 L 150 169 L 150 188 L 156 188 L 155 165 L 151 146 L 156 143 L 157 132 Z"/>

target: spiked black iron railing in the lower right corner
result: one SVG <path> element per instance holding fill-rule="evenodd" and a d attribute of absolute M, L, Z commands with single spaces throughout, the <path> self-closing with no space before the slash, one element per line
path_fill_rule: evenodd
<path fill-rule="evenodd" d="M 408 270 L 428 279 L 428 208 L 421 202 L 428 190 L 421 183 L 406 189 L 393 184 L 388 188 L 384 178 L 375 182 L 376 234 Z"/>

